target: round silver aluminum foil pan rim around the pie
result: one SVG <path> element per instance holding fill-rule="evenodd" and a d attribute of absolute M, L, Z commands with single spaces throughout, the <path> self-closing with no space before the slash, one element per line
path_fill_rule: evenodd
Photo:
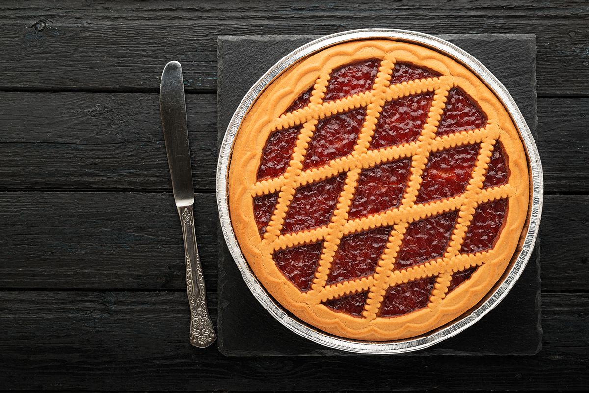
<path fill-rule="evenodd" d="M 229 214 L 227 177 L 229 176 L 229 163 L 231 151 L 233 150 L 233 141 L 241 121 L 247 114 L 249 108 L 253 105 L 254 101 L 256 101 L 259 94 L 262 93 L 264 88 L 266 88 L 274 78 L 282 74 L 284 70 L 308 55 L 321 51 L 327 47 L 341 44 L 342 42 L 357 41 L 360 39 L 392 39 L 394 41 L 422 45 L 453 58 L 474 72 L 483 82 L 485 82 L 487 87 L 491 89 L 508 111 L 512 121 L 519 130 L 519 135 L 524 144 L 528 158 L 528 172 L 530 175 L 530 203 L 528 216 L 524 229 L 522 230 L 518 247 L 511 262 L 505 269 L 504 274 L 495 286 L 489 290 L 487 295 L 477 303 L 477 305 L 469 309 L 469 311 L 465 312 L 458 319 L 446 323 L 428 333 L 396 341 L 376 342 L 342 338 L 321 331 L 314 326 L 310 326 L 286 311 L 286 309 L 274 300 L 267 290 L 263 288 L 246 262 L 243 253 L 241 253 L 239 244 L 237 243 L 235 233 L 233 232 L 233 226 L 231 225 Z M 544 180 L 542 178 L 542 164 L 538 148 L 523 115 L 504 85 L 502 85 L 501 82 L 499 82 L 499 80 L 481 64 L 481 62 L 456 45 L 432 35 L 397 29 L 359 29 L 340 32 L 315 39 L 315 41 L 309 42 L 287 54 L 274 64 L 273 67 L 266 71 L 252 88 L 250 88 L 243 100 L 241 100 L 241 103 L 237 107 L 233 117 L 231 117 L 229 126 L 227 127 L 226 134 L 221 143 L 219 161 L 217 164 L 217 204 L 219 206 L 221 229 L 223 230 L 223 236 L 225 237 L 231 256 L 254 297 L 262 304 L 270 315 L 276 318 L 282 323 L 282 325 L 286 326 L 286 328 L 290 329 L 290 331 L 293 331 L 310 341 L 316 342 L 317 344 L 358 354 L 400 354 L 403 352 L 427 348 L 428 346 L 432 346 L 458 334 L 468 328 L 468 326 L 477 322 L 482 316 L 497 306 L 497 304 L 505 298 L 509 290 L 513 288 L 515 282 L 530 259 L 540 226 L 543 191 Z"/>

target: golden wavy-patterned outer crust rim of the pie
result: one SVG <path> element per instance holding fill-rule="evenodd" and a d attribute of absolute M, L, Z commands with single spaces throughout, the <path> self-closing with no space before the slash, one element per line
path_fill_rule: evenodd
<path fill-rule="evenodd" d="M 365 318 L 332 311 L 321 303 L 327 300 L 322 298 L 325 294 L 301 293 L 284 277 L 276 267 L 272 255 L 269 255 L 260 241 L 253 216 L 253 185 L 257 183 L 260 156 L 273 131 L 273 124 L 275 126 L 276 119 L 281 117 L 301 93 L 321 79 L 320 77 L 317 80 L 317 75 L 329 74 L 331 70 L 345 64 L 385 57 L 429 68 L 442 75 L 451 75 L 459 81 L 459 87 L 481 107 L 489 122 L 494 121 L 498 127 L 498 139 L 501 140 L 507 158 L 508 184 L 512 187 L 512 194 L 508 197 L 504 227 L 491 250 L 475 254 L 478 255 L 475 263 L 482 265 L 471 278 L 447 296 L 443 292 L 439 293 L 439 283 L 436 283 L 432 291 L 432 302 L 418 311 L 366 321 Z M 292 81 L 296 83 L 293 84 Z M 286 118 L 283 121 L 288 123 L 289 120 Z M 386 39 L 338 44 L 293 64 L 259 94 L 244 117 L 234 140 L 230 161 L 228 194 L 231 223 L 241 251 L 256 277 L 270 295 L 297 318 L 346 338 L 366 341 L 411 338 L 432 331 L 467 312 L 487 295 L 509 265 L 528 212 L 527 161 L 521 157 L 526 157 L 525 151 L 517 128 L 505 108 L 478 77 L 454 60 L 432 49 Z M 434 202 L 428 204 L 432 203 Z M 472 263 L 472 260 L 465 260 L 464 263 Z M 429 273 L 436 271 L 436 263 L 423 265 L 429 265 L 422 267 L 423 274 L 431 275 Z M 406 277 L 399 279 L 403 278 Z M 366 281 L 356 281 L 362 280 Z M 358 285 L 362 284 L 356 283 Z M 355 288 L 355 285 L 350 285 L 350 288 Z"/>

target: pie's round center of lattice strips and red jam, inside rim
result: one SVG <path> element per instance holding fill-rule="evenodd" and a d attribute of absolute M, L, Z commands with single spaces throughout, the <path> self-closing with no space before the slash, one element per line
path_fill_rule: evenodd
<path fill-rule="evenodd" d="M 435 306 L 484 263 L 464 255 L 499 233 L 513 190 L 498 137 L 451 76 L 386 57 L 322 74 L 263 151 L 252 191 L 262 245 L 335 311 Z"/>

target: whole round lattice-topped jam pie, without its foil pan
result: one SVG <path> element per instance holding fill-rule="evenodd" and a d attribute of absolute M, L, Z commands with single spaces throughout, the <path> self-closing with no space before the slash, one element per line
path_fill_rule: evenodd
<path fill-rule="evenodd" d="M 241 121 L 231 225 L 267 292 L 333 335 L 392 341 L 464 315 L 528 214 L 517 127 L 477 75 L 387 39 L 322 49 Z"/>

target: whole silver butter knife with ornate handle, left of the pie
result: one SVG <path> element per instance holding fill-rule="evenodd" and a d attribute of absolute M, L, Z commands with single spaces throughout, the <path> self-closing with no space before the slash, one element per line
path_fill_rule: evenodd
<path fill-rule="evenodd" d="M 166 152 L 172 177 L 174 200 L 182 224 L 186 262 L 186 290 L 190 303 L 190 344 L 206 348 L 217 338 L 207 309 L 203 268 L 198 257 L 194 233 L 194 185 L 188 147 L 188 125 L 182 67 L 170 61 L 160 83 L 160 114 L 166 140 Z"/>

